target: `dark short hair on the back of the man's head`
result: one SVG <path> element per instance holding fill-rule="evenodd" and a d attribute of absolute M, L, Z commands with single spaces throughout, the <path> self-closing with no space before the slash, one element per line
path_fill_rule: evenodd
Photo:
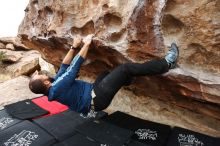
<path fill-rule="evenodd" d="M 29 82 L 29 88 L 35 94 L 47 95 L 48 93 L 48 89 L 41 79 L 33 79 L 32 77 Z"/>

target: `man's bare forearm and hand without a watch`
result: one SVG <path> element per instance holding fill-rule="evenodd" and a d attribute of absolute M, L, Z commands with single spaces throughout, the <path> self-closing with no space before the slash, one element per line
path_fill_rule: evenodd
<path fill-rule="evenodd" d="M 90 46 L 90 44 L 91 44 L 91 42 L 92 42 L 92 35 L 89 35 L 89 36 L 87 36 L 84 40 L 83 40 L 83 42 L 84 42 L 84 45 L 83 45 L 83 47 L 81 48 L 81 50 L 79 51 L 79 55 L 81 56 L 81 57 L 83 57 L 84 59 L 86 59 L 86 56 L 87 56 L 87 53 L 88 53 L 88 50 L 89 50 L 89 46 Z"/>

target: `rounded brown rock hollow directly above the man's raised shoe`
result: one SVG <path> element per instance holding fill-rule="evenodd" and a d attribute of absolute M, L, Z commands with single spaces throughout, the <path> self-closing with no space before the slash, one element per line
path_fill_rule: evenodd
<path fill-rule="evenodd" d="M 176 35 L 184 31 L 184 24 L 173 17 L 165 15 L 162 21 L 162 29 L 165 35 Z"/>

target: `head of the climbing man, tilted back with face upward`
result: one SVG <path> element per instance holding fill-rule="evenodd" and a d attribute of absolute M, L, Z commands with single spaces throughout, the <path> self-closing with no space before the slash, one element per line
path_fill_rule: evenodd
<path fill-rule="evenodd" d="M 49 88 L 54 79 L 47 71 L 36 71 L 30 79 L 29 88 L 35 94 L 48 94 Z"/>

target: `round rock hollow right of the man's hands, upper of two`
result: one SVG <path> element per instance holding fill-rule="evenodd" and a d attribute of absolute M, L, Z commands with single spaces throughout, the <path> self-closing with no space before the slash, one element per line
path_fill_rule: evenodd
<path fill-rule="evenodd" d="M 111 31 L 117 31 L 121 27 L 122 19 L 119 16 L 113 14 L 106 14 L 104 16 L 104 24 Z"/>

